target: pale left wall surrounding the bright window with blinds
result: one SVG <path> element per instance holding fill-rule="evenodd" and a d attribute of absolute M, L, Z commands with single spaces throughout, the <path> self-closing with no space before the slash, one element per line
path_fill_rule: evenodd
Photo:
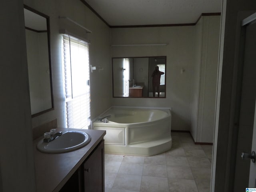
<path fill-rule="evenodd" d="M 92 13 L 80 0 L 24 0 L 24 4 L 50 16 L 50 43 L 52 62 L 52 82 L 54 110 L 32 118 L 32 127 L 39 126 L 55 118 L 58 127 L 64 127 L 64 98 L 62 96 L 62 68 L 59 30 L 66 28 L 90 40 L 90 64 L 103 67 L 90 73 L 91 86 L 91 117 L 92 119 L 110 107 L 111 102 L 111 59 L 110 59 L 110 28 Z M 88 28 L 92 33 L 72 22 L 59 19 L 66 16 Z"/>

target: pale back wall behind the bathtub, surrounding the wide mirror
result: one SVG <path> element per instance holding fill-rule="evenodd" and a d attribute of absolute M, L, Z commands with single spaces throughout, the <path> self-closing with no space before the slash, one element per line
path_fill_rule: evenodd
<path fill-rule="evenodd" d="M 112 57 L 167 56 L 166 98 L 112 98 L 112 105 L 169 107 L 172 108 L 172 130 L 190 130 L 194 28 L 112 28 L 112 44 L 168 43 L 166 46 L 112 46 Z M 180 68 L 184 68 L 183 74 Z"/>

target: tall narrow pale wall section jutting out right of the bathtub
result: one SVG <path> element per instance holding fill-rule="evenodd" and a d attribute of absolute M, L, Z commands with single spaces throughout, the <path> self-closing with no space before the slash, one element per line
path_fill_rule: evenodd
<path fill-rule="evenodd" d="M 191 133 L 195 142 L 213 142 L 220 16 L 196 24 L 195 68 L 191 93 Z"/>

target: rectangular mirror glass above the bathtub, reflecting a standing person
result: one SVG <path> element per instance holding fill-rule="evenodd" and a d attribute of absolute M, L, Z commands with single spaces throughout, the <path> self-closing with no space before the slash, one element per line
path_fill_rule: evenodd
<path fill-rule="evenodd" d="M 112 58 L 112 86 L 113 97 L 165 98 L 166 56 Z"/>

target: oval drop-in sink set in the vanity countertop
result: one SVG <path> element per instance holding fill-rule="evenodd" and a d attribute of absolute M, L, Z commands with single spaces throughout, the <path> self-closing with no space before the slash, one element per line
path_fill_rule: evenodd
<path fill-rule="evenodd" d="M 90 141 L 91 136 L 85 132 L 67 131 L 51 142 L 44 142 L 44 139 L 40 140 L 37 148 L 44 153 L 64 153 L 86 146 Z"/>

